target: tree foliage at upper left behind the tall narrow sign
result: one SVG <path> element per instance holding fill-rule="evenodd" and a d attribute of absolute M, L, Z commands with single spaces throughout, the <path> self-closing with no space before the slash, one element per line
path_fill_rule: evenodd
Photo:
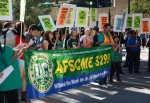
<path fill-rule="evenodd" d="M 20 16 L 20 1 L 13 0 L 13 16 L 14 20 L 19 20 Z M 47 15 L 51 11 L 51 5 L 44 5 L 44 3 L 50 0 L 27 0 L 26 13 L 25 13 L 25 24 L 27 27 L 31 24 L 38 24 L 39 15 Z M 42 5 L 43 3 L 43 5 Z"/>

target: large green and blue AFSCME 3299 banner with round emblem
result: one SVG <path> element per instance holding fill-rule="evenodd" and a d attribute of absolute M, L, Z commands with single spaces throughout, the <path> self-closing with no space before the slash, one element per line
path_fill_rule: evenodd
<path fill-rule="evenodd" d="M 104 78 L 109 75 L 110 61 L 109 46 L 26 52 L 27 98 L 45 97 Z"/>

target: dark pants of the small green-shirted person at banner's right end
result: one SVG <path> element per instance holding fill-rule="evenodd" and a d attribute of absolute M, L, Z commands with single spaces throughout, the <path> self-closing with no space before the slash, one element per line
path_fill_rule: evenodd
<path fill-rule="evenodd" d="M 110 81 L 113 80 L 114 73 L 116 72 L 116 78 L 117 80 L 120 80 L 120 66 L 121 62 L 112 62 L 111 64 L 111 70 L 110 70 Z"/>

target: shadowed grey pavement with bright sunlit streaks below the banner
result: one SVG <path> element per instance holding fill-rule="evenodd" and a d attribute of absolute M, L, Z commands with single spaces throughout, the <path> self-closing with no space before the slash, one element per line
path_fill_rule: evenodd
<path fill-rule="evenodd" d="M 123 60 L 125 60 L 125 51 L 123 51 Z M 41 100 L 34 100 L 32 103 L 150 103 L 150 73 L 146 72 L 147 61 L 148 49 L 142 49 L 141 74 L 129 74 L 127 68 L 123 68 L 125 73 L 121 75 L 123 82 L 115 81 L 108 89 L 92 82 Z"/>

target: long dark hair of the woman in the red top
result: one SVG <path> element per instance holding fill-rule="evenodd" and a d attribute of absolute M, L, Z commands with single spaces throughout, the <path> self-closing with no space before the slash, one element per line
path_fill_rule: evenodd
<path fill-rule="evenodd" d="M 24 36 L 24 23 L 23 22 L 17 22 L 15 25 L 15 29 L 17 31 L 16 35 L 21 36 L 21 23 L 22 23 L 22 38 L 25 38 Z"/>

